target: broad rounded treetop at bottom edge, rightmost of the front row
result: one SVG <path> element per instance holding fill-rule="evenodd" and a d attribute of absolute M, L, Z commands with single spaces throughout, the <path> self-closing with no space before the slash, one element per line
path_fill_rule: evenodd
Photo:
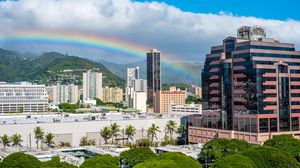
<path fill-rule="evenodd" d="M 290 154 L 269 146 L 259 146 L 242 152 L 259 168 L 298 168 L 299 163 Z"/>

